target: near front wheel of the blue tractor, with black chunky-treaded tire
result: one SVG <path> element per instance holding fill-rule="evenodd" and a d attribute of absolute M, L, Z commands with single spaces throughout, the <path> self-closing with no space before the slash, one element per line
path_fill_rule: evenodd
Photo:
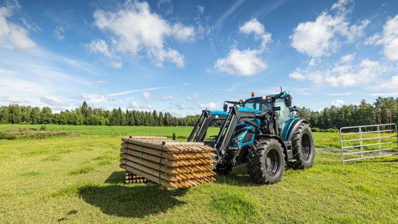
<path fill-rule="evenodd" d="M 273 138 L 256 140 L 247 155 L 247 172 L 259 184 L 281 181 L 285 170 L 285 154 L 281 143 Z"/>

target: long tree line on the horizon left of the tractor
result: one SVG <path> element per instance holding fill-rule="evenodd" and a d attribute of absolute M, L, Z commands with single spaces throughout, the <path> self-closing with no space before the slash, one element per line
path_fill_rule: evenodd
<path fill-rule="evenodd" d="M 53 113 L 49 107 L 42 109 L 12 104 L 0 107 L 0 123 L 71 124 L 71 125 L 134 125 L 134 126 L 194 126 L 199 115 L 175 117 L 169 112 L 122 111 L 92 109 L 85 102 L 72 111 Z"/>

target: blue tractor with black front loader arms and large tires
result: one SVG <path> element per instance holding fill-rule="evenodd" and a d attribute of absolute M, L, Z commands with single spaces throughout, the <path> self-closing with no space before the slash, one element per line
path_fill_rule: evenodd
<path fill-rule="evenodd" d="M 247 164 L 250 178 L 260 184 L 282 179 L 285 164 L 293 169 L 312 166 L 315 152 L 311 128 L 295 117 L 292 97 L 286 92 L 226 101 L 224 111 L 204 110 L 188 141 L 201 141 L 215 148 L 215 171 L 226 175 L 232 167 Z M 227 104 L 232 104 L 229 107 Z M 207 128 L 220 131 L 204 140 Z"/>

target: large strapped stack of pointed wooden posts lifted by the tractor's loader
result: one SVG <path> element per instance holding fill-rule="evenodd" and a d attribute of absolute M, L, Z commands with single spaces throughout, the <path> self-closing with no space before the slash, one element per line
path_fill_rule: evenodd
<path fill-rule="evenodd" d="M 120 167 L 161 186 L 183 188 L 215 180 L 214 148 L 203 142 L 156 136 L 130 136 L 121 140 Z"/>

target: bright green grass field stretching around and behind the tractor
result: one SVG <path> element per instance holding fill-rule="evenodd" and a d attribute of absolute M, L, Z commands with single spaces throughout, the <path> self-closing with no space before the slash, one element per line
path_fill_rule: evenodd
<path fill-rule="evenodd" d="M 398 157 L 342 166 L 338 153 L 316 151 L 312 168 L 287 169 L 275 185 L 253 184 L 241 165 L 214 183 L 163 190 L 123 184 L 120 137 L 175 132 L 184 140 L 191 127 L 46 126 L 80 136 L 0 140 L 0 223 L 398 222 Z M 340 147 L 338 133 L 314 138 L 317 147 Z"/>

